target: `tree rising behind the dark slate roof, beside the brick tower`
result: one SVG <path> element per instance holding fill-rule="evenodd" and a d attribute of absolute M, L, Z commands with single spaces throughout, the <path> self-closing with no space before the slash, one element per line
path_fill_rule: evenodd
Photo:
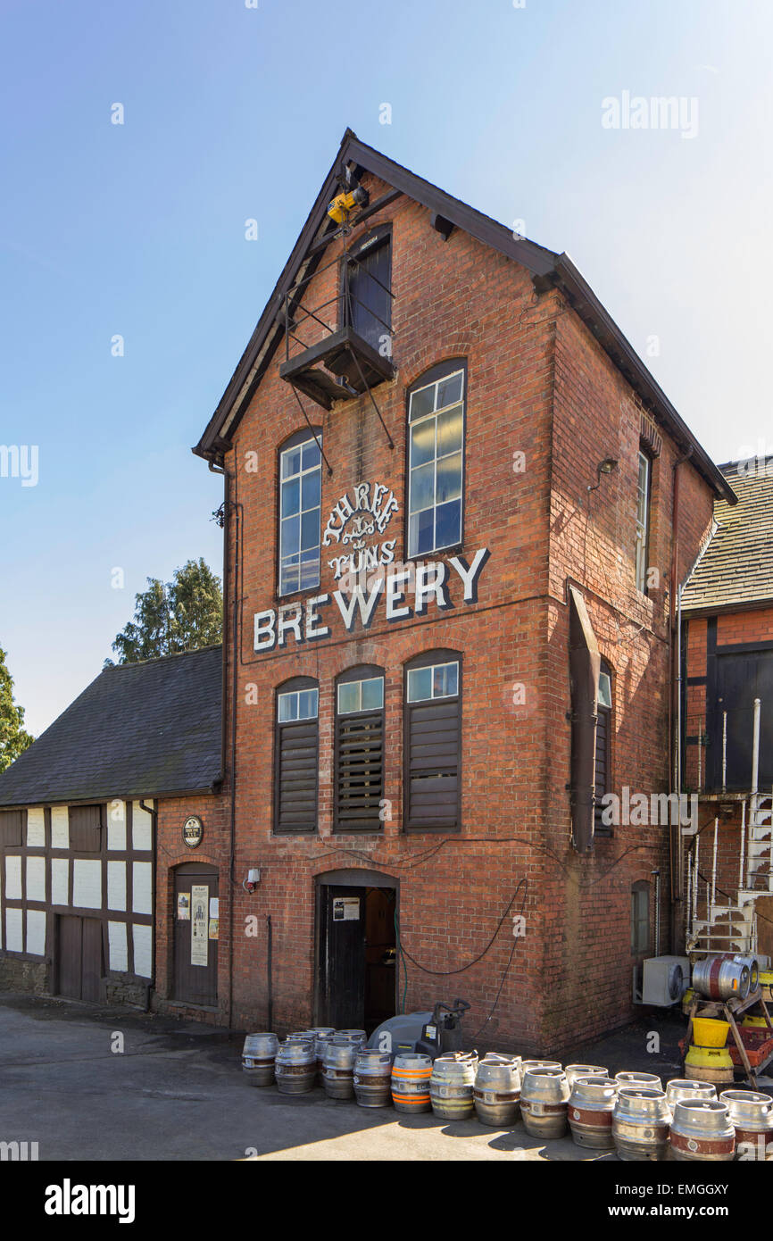
<path fill-rule="evenodd" d="M 134 620 L 115 637 L 119 664 L 159 655 L 175 655 L 222 642 L 223 596 L 203 557 L 176 568 L 171 582 L 149 577 L 148 589 L 135 594 Z M 105 659 L 109 668 L 114 660 Z"/>

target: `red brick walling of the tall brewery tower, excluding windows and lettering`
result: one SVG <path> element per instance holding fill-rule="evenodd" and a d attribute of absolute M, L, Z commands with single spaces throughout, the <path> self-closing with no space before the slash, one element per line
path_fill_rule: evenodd
<path fill-rule="evenodd" d="M 377 182 L 369 187 L 372 200 L 382 189 Z M 462 970 L 434 977 L 409 963 L 407 1008 L 462 995 L 473 1005 L 469 1033 L 483 1028 L 479 1046 L 548 1051 L 627 1020 L 630 884 L 649 876 L 656 862 L 668 890 L 661 831 L 622 829 L 592 859 L 578 859 L 568 844 L 565 601 L 568 575 L 587 589 L 599 643 L 615 669 L 615 786 L 665 788 L 664 589 L 675 452 L 666 442 L 654 472 L 651 562 L 661 567 L 663 580 L 646 599 L 633 586 L 639 412 L 612 364 L 558 295 L 537 298 L 515 263 L 459 230 L 444 242 L 429 227 L 428 212 L 404 197 L 367 227 L 386 218 L 393 221 L 398 377 L 375 395 L 395 449 L 367 398 L 329 413 L 303 398 L 311 421 L 324 428 L 334 469 L 329 478 L 323 468 L 323 521 L 355 483 L 382 482 L 400 504 L 388 536 L 398 539 L 396 553 L 403 557 L 404 392 L 428 366 L 464 356 L 462 553 L 469 562 L 476 549 L 488 547 L 490 560 L 474 606 L 460 604 L 460 591 L 452 587 L 457 606 L 450 612 L 440 614 L 431 604 L 423 618 L 388 624 L 377 611 L 366 634 L 347 634 L 331 604 L 325 609 L 330 637 L 300 648 L 290 637 L 285 649 L 254 653 L 253 613 L 278 604 L 277 449 L 305 426 L 293 392 L 278 377 L 280 350 L 226 459 L 232 496 L 242 505 L 243 536 L 235 874 L 241 882 L 248 866 L 259 865 L 263 876 L 253 897 L 233 890 L 232 1024 L 264 1028 L 267 916 L 274 937 L 274 1026 L 283 1033 L 313 1020 L 314 876 L 366 866 L 400 880 L 401 931 L 411 956 L 426 970 Z M 335 269 L 316 277 L 308 304 L 331 295 L 336 279 Z M 304 339 L 313 339 L 311 333 Z M 257 472 L 246 469 L 249 452 L 257 453 Z M 526 454 L 525 473 L 514 472 L 516 452 Z M 593 493 L 588 525 L 587 485 L 596 482 L 597 462 L 609 454 L 620 459 L 620 468 Z M 708 524 L 711 496 L 691 465 L 682 467 L 682 475 L 686 565 Z M 231 563 L 233 553 L 235 524 Z M 323 558 L 321 585 L 311 594 L 334 588 Z M 609 598 L 614 607 L 603 602 Z M 450 647 L 463 660 L 463 825 L 449 838 L 401 831 L 402 665 L 433 647 Z M 386 670 L 385 797 L 392 817 L 382 834 L 341 838 L 331 835 L 333 684 L 340 670 L 359 663 Z M 272 834 L 274 692 L 299 674 L 318 678 L 320 688 L 319 834 L 288 839 Z M 522 702 L 517 695 L 514 700 L 521 685 Z M 249 702 L 252 696 L 257 701 Z M 174 814 L 180 819 L 187 809 L 174 808 Z M 226 886 L 223 881 L 221 901 Z M 159 881 L 159 892 L 163 887 Z M 514 941 L 511 915 L 524 900 L 526 936 Z M 159 913 L 163 918 L 161 903 Z M 243 933 L 252 913 L 258 937 Z M 221 927 L 223 920 L 221 906 Z M 664 934 L 661 951 L 666 947 Z M 221 938 L 221 962 L 223 951 Z M 498 993 L 494 1016 L 486 1020 Z"/>

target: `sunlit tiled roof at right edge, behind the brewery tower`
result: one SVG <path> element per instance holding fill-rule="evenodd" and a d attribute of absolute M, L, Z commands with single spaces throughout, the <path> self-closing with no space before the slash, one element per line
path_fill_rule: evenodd
<path fill-rule="evenodd" d="M 717 500 L 720 525 L 681 597 L 682 612 L 773 603 L 773 457 L 731 462 L 720 469 L 738 496 Z"/>

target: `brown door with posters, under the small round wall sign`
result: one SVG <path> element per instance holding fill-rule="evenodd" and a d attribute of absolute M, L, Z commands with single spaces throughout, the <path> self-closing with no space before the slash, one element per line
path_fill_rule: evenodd
<path fill-rule="evenodd" d="M 175 1000 L 217 1005 L 218 875 L 206 862 L 184 862 L 175 870 Z"/>

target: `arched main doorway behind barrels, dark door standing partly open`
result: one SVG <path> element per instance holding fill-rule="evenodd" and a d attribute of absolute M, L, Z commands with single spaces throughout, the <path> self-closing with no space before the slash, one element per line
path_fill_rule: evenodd
<path fill-rule="evenodd" d="M 318 880 L 321 1025 L 370 1035 L 397 1011 L 396 911 L 397 881 L 388 875 L 336 871 Z"/>

